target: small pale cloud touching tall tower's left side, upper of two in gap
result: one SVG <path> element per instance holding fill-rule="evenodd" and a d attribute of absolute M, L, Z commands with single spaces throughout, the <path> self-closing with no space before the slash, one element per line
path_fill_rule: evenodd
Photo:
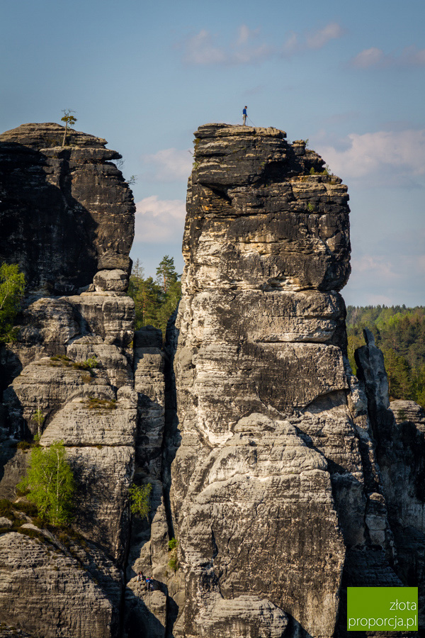
<path fill-rule="evenodd" d="M 147 176 L 154 181 L 187 181 L 191 174 L 193 156 L 188 150 L 164 148 L 153 155 L 142 155 Z"/>

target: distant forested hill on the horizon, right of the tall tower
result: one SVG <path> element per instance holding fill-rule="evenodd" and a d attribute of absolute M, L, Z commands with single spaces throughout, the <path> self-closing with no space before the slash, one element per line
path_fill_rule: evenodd
<path fill-rule="evenodd" d="M 363 328 L 375 335 L 384 354 L 390 400 L 412 399 L 425 408 L 425 307 L 348 306 L 348 357 L 364 345 Z"/>

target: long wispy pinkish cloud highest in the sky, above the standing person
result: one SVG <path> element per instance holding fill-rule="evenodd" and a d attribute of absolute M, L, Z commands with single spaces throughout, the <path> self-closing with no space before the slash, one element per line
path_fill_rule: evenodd
<path fill-rule="evenodd" d="M 322 29 L 307 34 L 289 33 L 283 45 L 259 41 L 260 29 L 239 26 L 234 40 L 222 45 L 218 36 L 202 29 L 182 43 L 183 61 L 191 65 L 244 65 L 268 60 L 271 57 L 288 57 L 308 49 L 320 49 L 330 40 L 341 38 L 344 29 L 331 22 Z"/>

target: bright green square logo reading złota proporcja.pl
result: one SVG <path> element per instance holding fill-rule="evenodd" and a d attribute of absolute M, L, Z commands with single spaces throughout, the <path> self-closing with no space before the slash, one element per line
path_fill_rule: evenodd
<path fill-rule="evenodd" d="M 417 587 L 347 588 L 348 632 L 414 632 L 417 629 Z"/>

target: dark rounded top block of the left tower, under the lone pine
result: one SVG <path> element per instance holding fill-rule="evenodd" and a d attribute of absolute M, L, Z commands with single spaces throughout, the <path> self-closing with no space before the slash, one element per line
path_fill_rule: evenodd
<path fill-rule="evenodd" d="M 128 271 L 135 206 L 106 140 L 55 123 L 0 135 L 0 254 L 28 290 L 77 291 L 102 269 Z"/>

